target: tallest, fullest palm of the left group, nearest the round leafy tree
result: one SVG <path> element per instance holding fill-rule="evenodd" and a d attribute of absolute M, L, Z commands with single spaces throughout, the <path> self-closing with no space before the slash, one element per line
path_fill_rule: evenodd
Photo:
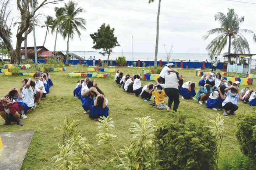
<path fill-rule="evenodd" d="M 80 13 L 83 12 L 83 9 L 81 7 L 77 8 L 77 3 L 74 3 L 72 0 L 69 1 L 67 4 L 65 3 L 65 10 L 64 14 L 60 16 L 61 22 L 61 29 L 62 29 L 62 36 L 67 40 L 67 51 L 66 51 L 66 63 L 65 65 L 68 66 L 68 60 L 69 60 L 69 53 L 68 53 L 68 44 L 69 39 L 71 40 L 74 38 L 74 34 L 77 33 L 79 38 L 81 39 L 81 33 L 79 31 L 79 28 L 82 30 L 85 30 L 85 19 L 77 17 Z"/>

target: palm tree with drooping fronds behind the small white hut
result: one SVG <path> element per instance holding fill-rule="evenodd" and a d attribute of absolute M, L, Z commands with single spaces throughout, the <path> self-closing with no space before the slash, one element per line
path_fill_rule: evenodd
<path fill-rule="evenodd" d="M 220 55 L 221 51 L 227 45 L 227 41 L 228 54 L 231 53 L 231 45 L 233 46 L 234 53 L 250 53 L 248 41 L 242 33 L 251 34 L 254 42 L 256 41 L 256 36 L 251 30 L 239 28 L 241 23 L 244 21 L 244 16 L 238 18 L 234 9 L 228 9 L 227 15 L 218 12 L 214 17 L 215 21 L 220 22 L 221 27 L 208 31 L 208 34 L 203 37 L 206 40 L 210 35 L 218 34 L 218 36 L 206 47 L 209 57 L 213 59 L 214 56 Z"/>

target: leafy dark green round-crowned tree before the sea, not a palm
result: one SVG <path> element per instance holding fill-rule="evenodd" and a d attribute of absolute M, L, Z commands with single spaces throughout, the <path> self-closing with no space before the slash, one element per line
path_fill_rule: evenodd
<path fill-rule="evenodd" d="M 109 25 L 106 26 L 105 23 L 100 26 L 100 29 L 98 29 L 97 33 L 90 34 L 90 37 L 93 40 L 93 47 L 94 49 L 102 49 L 101 52 L 99 52 L 101 55 L 107 56 L 107 65 L 109 64 L 109 56 L 111 52 L 113 51 L 114 47 L 120 46 L 117 41 L 117 37 L 114 35 L 114 28 L 110 28 Z"/>

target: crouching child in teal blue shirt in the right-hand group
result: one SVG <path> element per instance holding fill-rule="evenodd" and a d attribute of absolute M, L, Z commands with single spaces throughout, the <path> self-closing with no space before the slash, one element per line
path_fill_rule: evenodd
<path fill-rule="evenodd" d="M 196 99 L 199 104 L 203 104 L 203 102 L 207 103 L 209 96 L 211 94 L 211 86 L 209 84 L 201 84 L 198 94 L 196 95 Z"/>

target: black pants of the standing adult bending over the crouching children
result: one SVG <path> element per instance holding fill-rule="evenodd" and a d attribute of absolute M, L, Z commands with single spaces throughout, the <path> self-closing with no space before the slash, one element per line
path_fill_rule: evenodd
<path fill-rule="evenodd" d="M 168 107 L 171 107 L 174 102 L 173 110 L 177 111 L 179 107 L 179 90 L 175 88 L 164 88 L 164 92 L 169 97 Z"/>

